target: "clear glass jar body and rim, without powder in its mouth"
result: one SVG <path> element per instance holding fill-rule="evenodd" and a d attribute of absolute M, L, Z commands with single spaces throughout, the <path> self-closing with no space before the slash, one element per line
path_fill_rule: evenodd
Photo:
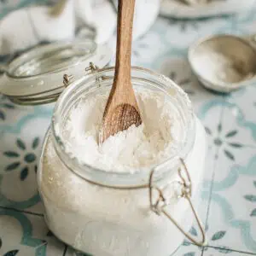
<path fill-rule="evenodd" d="M 191 184 L 196 191 L 204 171 L 205 131 L 177 84 L 132 67 L 135 90 L 161 91 L 177 112 L 181 127 L 177 153 L 170 153 L 153 170 L 134 173 L 81 164 L 66 150 L 64 124 L 81 97 L 110 90 L 113 73 L 113 67 L 92 70 L 70 84 L 56 102 L 38 166 L 45 221 L 61 241 L 95 256 L 170 255 L 184 235 L 192 239 L 186 231 L 195 219 L 202 231 L 190 195 Z M 205 242 L 203 231 L 202 236 L 201 242 L 195 241 L 199 245 Z"/>

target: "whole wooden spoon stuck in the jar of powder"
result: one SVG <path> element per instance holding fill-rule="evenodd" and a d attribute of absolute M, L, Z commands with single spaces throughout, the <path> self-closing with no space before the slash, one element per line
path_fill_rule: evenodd
<path fill-rule="evenodd" d="M 135 0 L 119 0 L 113 85 L 103 114 L 99 143 L 142 119 L 131 85 L 131 41 Z"/>

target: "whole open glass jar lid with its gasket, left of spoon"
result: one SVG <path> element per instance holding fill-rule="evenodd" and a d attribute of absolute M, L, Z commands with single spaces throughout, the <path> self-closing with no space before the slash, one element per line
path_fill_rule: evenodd
<path fill-rule="evenodd" d="M 90 62 L 105 67 L 111 57 L 107 45 L 88 39 L 38 46 L 4 67 L 0 93 L 20 105 L 55 102 L 65 85 L 84 75 Z"/>

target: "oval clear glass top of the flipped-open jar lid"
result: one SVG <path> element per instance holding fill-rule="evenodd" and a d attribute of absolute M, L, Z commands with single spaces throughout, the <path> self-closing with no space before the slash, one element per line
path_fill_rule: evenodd
<path fill-rule="evenodd" d="M 93 41 L 77 44 L 49 44 L 37 47 L 11 62 L 7 75 L 15 79 L 31 78 L 51 72 L 59 72 L 86 60 L 96 51 Z"/>

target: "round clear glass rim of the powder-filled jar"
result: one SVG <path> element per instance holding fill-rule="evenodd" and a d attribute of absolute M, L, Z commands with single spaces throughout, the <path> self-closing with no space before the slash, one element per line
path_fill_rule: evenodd
<path fill-rule="evenodd" d="M 132 172 L 132 173 L 131 172 L 114 172 L 114 171 L 106 172 L 100 168 L 97 168 L 96 166 L 91 166 L 86 163 L 83 163 L 83 165 L 81 165 L 79 160 L 77 158 L 71 156 L 71 154 L 67 153 L 67 150 L 65 148 L 65 142 L 64 142 L 63 138 L 61 137 L 61 129 L 59 127 L 59 122 L 61 119 L 61 111 L 65 104 L 65 101 L 73 93 L 73 90 L 79 86 L 79 84 L 83 84 L 83 82 L 86 79 L 91 79 L 93 77 L 97 78 L 102 73 L 105 73 L 108 71 L 114 71 L 114 67 L 104 67 L 102 69 L 98 69 L 96 72 L 89 73 L 89 74 L 85 75 L 82 79 L 79 79 L 77 81 L 74 81 L 72 84 L 69 84 L 67 89 L 65 89 L 62 92 L 61 96 L 59 97 L 59 99 L 57 100 L 57 102 L 55 104 L 55 109 L 54 109 L 54 113 L 53 113 L 53 117 L 52 117 L 52 121 L 51 121 L 51 131 L 52 131 L 53 137 L 54 137 L 54 145 L 55 145 L 56 154 L 58 154 L 58 156 L 61 158 L 61 160 L 63 160 L 65 166 L 67 166 L 67 168 L 69 170 L 71 170 L 74 173 L 76 173 L 77 175 L 79 175 L 79 177 L 82 177 L 85 180 L 90 181 L 91 183 L 100 184 L 100 185 L 106 186 L 106 187 L 109 187 L 109 185 L 111 185 L 111 187 L 113 187 L 113 188 L 114 187 L 127 188 L 127 186 L 124 184 L 117 186 L 115 183 L 112 183 L 112 179 L 108 180 L 108 178 L 106 178 L 106 177 L 107 177 L 107 175 L 108 175 L 108 177 L 109 177 L 109 175 L 111 175 L 112 177 L 114 177 L 116 179 L 126 180 L 128 177 L 133 176 L 133 177 L 136 177 L 134 180 L 140 180 L 141 183 L 137 184 L 137 185 L 130 185 L 128 188 L 131 188 L 131 187 L 142 188 L 144 186 L 148 187 L 148 177 L 150 175 L 150 172 L 152 172 L 152 170 L 155 171 L 154 179 L 159 180 L 160 178 L 163 177 L 163 175 L 166 175 L 168 172 L 168 171 L 161 170 L 162 166 L 166 166 L 166 164 L 168 164 L 168 166 L 169 166 L 169 164 L 170 164 L 170 166 L 172 166 L 171 169 L 173 169 L 173 166 L 177 166 L 177 165 L 180 166 L 180 158 L 181 157 L 186 158 L 187 155 L 189 154 L 189 151 L 191 150 L 191 148 L 193 148 L 194 143 L 195 143 L 195 115 L 194 115 L 194 111 L 192 108 L 192 104 L 189 100 L 189 96 L 182 90 L 181 87 L 179 87 L 177 84 L 175 84 L 172 81 L 172 79 L 169 79 L 164 75 L 160 75 L 159 73 L 155 73 L 154 71 L 151 71 L 151 70 L 143 68 L 143 67 L 131 67 L 131 71 L 137 71 L 140 73 L 149 74 L 149 75 L 161 80 L 162 82 L 169 84 L 170 87 L 172 86 L 172 88 L 174 90 L 176 90 L 177 94 L 179 94 L 180 96 L 183 96 L 184 101 L 186 102 L 186 107 L 188 108 L 188 113 L 189 113 L 189 116 L 188 116 L 189 125 L 188 126 L 189 126 L 190 131 L 192 131 L 192 133 L 186 134 L 186 145 L 184 145 L 181 152 L 179 152 L 179 154 L 176 157 L 168 158 L 164 162 L 161 162 L 160 164 L 154 166 L 152 169 L 145 168 L 145 170 L 142 170 L 141 172 Z M 82 172 L 78 171 L 80 168 L 83 169 Z M 86 172 L 90 172 L 90 173 L 86 173 Z M 93 175 L 92 175 L 93 177 L 91 177 L 91 175 L 90 175 L 92 173 L 93 173 Z M 168 174 L 169 174 L 169 172 L 168 172 Z M 102 179 L 102 176 L 104 177 L 103 179 Z M 102 180 L 102 182 L 100 182 L 98 179 Z M 143 181 L 143 183 L 142 183 L 142 181 Z"/>

